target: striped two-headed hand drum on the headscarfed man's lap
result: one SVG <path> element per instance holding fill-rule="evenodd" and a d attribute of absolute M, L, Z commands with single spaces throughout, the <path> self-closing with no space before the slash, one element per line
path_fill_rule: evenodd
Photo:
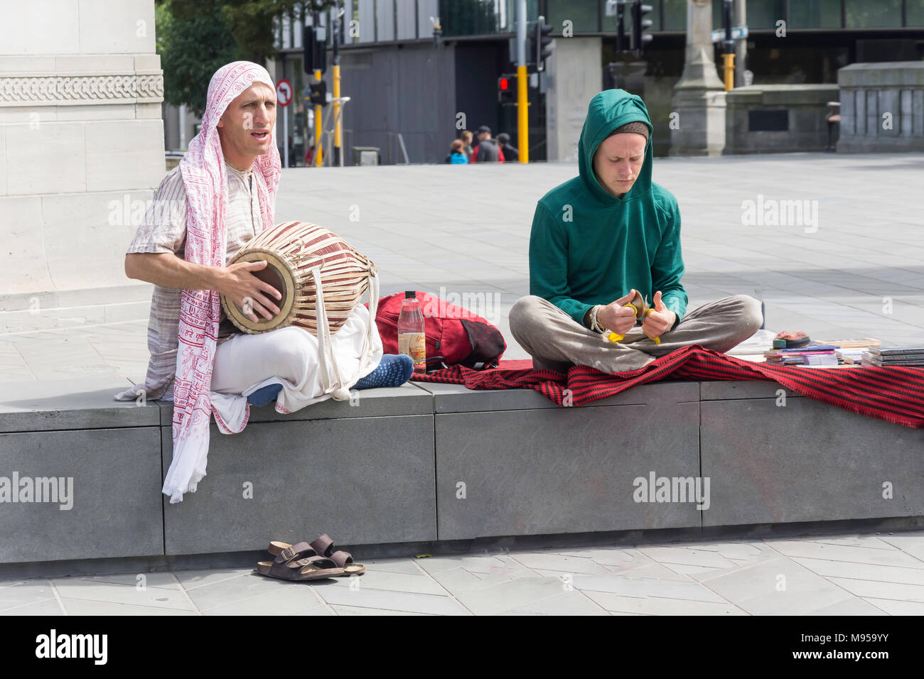
<path fill-rule="evenodd" d="M 269 333 L 289 325 L 313 334 L 318 338 L 324 374 L 333 372 L 334 399 L 348 399 L 349 392 L 334 362 L 331 335 L 343 326 L 368 292 L 370 327 L 365 347 L 371 350 L 379 302 L 375 264 L 340 236 L 309 222 L 284 222 L 262 231 L 228 265 L 247 261 L 266 262 L 261 271 L 251 273 L 282 294 L 281 299 L 274 299 L 279 313 L 265 319 L 254 310 L 258 320 L 252 321 L 245 309 L 222 295 L 222 309 L 228 319 L 249 334 Z"/>

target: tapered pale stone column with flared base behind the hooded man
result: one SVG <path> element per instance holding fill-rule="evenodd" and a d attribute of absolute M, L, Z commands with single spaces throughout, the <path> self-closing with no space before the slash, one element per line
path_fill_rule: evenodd
<path fill-rule="evenodd" d="M 710 0 L 687 0 L 684 73 L 671 102 L 670 155 L 721 155 L 725 92 L 712 60 Z"/>

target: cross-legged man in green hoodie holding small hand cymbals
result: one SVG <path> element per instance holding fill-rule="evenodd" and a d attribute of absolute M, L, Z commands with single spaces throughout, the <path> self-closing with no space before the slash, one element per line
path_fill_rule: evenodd
<path fill-rule="evenodd" d="M 760 328 L 760 302 L 746 295 L 687 313 L 680 211 L 651 181 L 651 131 L 638 96 L 600 92 L 581 130 L 579 176 L 536 206 L 530 294 L 509 321 L 538 370 L 638 370 L 681 346 L 728 351 Z M 637 291 L 651 304 L 643 319 L 626 306 Z M 611 333 L 624 339 L 613 342 Z"/>

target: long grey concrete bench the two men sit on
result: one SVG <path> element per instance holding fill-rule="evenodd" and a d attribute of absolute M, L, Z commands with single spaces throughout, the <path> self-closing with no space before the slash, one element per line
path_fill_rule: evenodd
<path fill-rule="evenodd" d="M 418 383 L 290 415 L 251 408 L 240 434 L 213 425 L 208 475 L 170 504 L 173 405 L 113 401 L 124 386 L 0 385 L 0 492 L 14 474 L 73 479 L 66 502 L 0 502 L 0 564 L 245 552 L 321 532 L 401 545 L 924 516 L 924 430 L 774 382 L 659 382 L 579 407 Z M 675 491 L 708 478 L 708 507 L 641 493 L 652 478 Z"/>

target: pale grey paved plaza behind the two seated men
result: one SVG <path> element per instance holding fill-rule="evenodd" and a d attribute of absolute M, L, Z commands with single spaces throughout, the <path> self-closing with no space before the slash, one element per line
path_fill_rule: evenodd
<path fill-rule="evenodd" d="M 506 315 L 529 294 L 532 213 L 576 174 L 574 164 L 292 168 L 276 215 L 344 236 L 376 262 L 383 295 L 442 292 L 480 311 L 505 333 L 506 358 L 527 358 Z M 653 176 L 680 204 L 691 309 L 749 294 L 765 301 L 775 331 L 924 341 L 920 154 L 659 158 Z M 808 201 L 798 224 L 743 223 L 747 201 L 765 219 L 782 208 L 788 222 L 800 215 L 783 201 L 796 200 Z M 0 382 L 140 382 L 150 291 L 127 285 L 107 291 L 105 304 L 88 293 L 99 303 L 0 313 Z"/>

